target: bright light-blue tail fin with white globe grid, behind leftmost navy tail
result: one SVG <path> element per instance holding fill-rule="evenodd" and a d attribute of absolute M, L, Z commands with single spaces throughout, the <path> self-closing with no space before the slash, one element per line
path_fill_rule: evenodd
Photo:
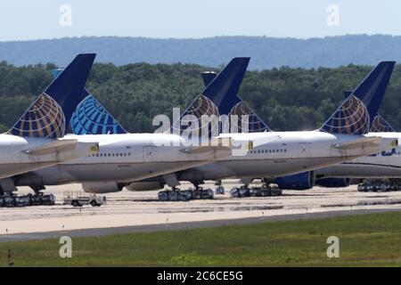
<path fill-rule="evenodd" d="M 62 69 L 53 69 L 53 77 L 57 77 L 61 71 Z M 84 89 L 82 96 L 85 99 L 79 103 L 70 120 L 74 134 L 127 134 L 87 89 Z"/>

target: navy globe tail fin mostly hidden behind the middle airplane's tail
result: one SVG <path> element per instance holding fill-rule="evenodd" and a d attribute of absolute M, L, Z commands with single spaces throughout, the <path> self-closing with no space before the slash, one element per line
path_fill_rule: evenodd
<path fill-rule="evenodd" d="M 217 73 L 213 71 L 206 71 L 201 73 L 203 83 L 206 86 L 208 86 L 215 77 L 217 77 Z M 237 95 L 238 100 L 237 101 L 232 101 L 232 105 L 230 106 L 225 106 L 225 110 L 230 109 L 230 112 L 228 114 L 225 114 L 222 108 L 219 108 L 220 115 L 236 115 L 238 116 L 238 125 L 237 128 L 239 132 L 241 132 L 241 118 L 243 115 L 248 115 L 248 130 L 250 133 L 256 133 L 256 132 L 271 132 L 272 130 L 266 125 L 266 123 L 258 117 L 258 115 L 250 109 L 248 104 L 246 102 L 243 102 L 241 97 Z"/>

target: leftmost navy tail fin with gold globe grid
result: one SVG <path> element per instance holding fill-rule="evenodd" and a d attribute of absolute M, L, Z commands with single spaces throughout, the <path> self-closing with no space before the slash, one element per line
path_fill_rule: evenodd
<path fill-rule="evenodd" d="M 30 137 L 62 137 L 73 111 L 84 98 L 82 90 L 94 57 L 94 53 L 78 54 L 30 105 L 8 133 Z"/>

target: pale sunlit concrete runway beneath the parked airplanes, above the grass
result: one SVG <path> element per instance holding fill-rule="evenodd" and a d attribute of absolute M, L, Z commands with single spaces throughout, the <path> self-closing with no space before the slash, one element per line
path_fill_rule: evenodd
<path fill-rule="evenodd" d="M 189 202 L 160 202 L 158 191 L 121 191 L 107 194 L 100 208 L 61 205 L 63 191 L 79 191 L 79 184 L 49 187 L 57 204 L 50 207 L 0 208 L 0 242 L 40 240 L 61 235 L 98 236 L 126 232 L 151 232 L 224 224 L 344 216 L 401 210 L 401 191 L 358 192 L 356 185 L 308 191 L 283 191 L 281 197 L 232 199 L 228 191 L 236 181 L 226 181 L 225 195 Z M 183 188 L 185 185 L 183 184 Z M 214 188 L 213 184 L 206 186 Z M 21 193 L 29 192 L 21 188 Z"/>

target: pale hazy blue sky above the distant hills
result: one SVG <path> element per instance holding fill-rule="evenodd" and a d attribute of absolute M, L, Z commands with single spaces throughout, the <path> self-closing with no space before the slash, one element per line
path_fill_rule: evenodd
<path fill-rule="evenodd" d="M 60 11 L 63 4 L 70 7 L 71 17 L 68 11 Z M 331 4 L 338 10 L 328 12 Z M 400 12 L 400 0 L 2 0 L 0 41 L 80 36 L 401 35 Z M 331 16 L 336 18 L 329 25 Z M 71 19 L 70 26 L 65 19 Z"/>

